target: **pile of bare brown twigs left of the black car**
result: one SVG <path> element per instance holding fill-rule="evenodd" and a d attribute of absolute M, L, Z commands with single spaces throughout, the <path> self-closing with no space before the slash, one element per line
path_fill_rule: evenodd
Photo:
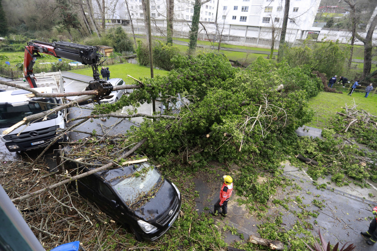
<path fill-rule="evenodd" d="M 48 172 L 47 167 L 36 167 L 24 161 L 2 162 L 0 177 L 11 199 L 64 179 L 58 172 Z M 122 236 L 122 241 L 126 240 L 126 230 L 95 205 L 83 200 L 70 186 L 48 190 L 14 204 L 46 250 L 77 240 L 85 250 L 105 250 L 107 245 L 120 249 L 130 246 L 128 240 L 127 244 L 117 241 L 118 238 L 111 238 L 113 243 L 104 242 L 115 233 Z M 130 241 L 132 243 L 133 239 Z"/>

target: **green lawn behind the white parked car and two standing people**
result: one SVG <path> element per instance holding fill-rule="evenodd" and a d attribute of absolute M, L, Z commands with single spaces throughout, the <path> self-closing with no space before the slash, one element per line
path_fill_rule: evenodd
<path fill-rule="evenodd" d="M 127 75 L 132 76 L 133 78 L 150 78 L 150 68 L 139 66 L 136 64 L 114 64 L 109 65 L 109 70 L 111 71 L 110 77 L 111 78 L 121 78 L 126 82 L 126 84 L 132 85 L 134 84 L 134 80 L 129 78 Z M 93 76 L 92 68 L 85 68 L 80 70 L 72 70 L 71 72 L 86 75 L 86 76 Z M 167 71 L 164 70 L 157 70 L 153 69 L 153 74 L 156 75 L 166 75 Z"/>

